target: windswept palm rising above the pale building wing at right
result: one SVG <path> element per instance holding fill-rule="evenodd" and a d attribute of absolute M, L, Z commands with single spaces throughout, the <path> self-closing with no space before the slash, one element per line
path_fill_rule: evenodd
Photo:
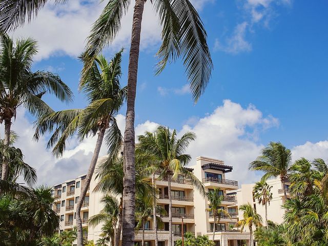
<path fill-rule="evenodd" d="M 291 150 L 284 147 L 281 142 L 270 142 L 262 150 L 262 155 L 250 163 L 250 170 L 263 171 L 262 181 L 268 178 L 280 177 L 284 199 L 287 200 L 285 182 L 288 179 L 289 168 L 292 163 Z"/>

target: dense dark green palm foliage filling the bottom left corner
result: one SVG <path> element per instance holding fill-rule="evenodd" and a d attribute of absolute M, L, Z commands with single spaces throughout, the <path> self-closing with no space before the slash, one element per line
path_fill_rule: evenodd
<path fill-rule="evenodd" d="M 40 187 L 28 196 L 4 194 L 0 197 L 1 233 L 18 245 L 34 245 L 43 237 L 51 237 L 59 229 L 59 216 L 51 209 L 51 188 Z M 49 243 L 56 241 L 49 239 Z"/>

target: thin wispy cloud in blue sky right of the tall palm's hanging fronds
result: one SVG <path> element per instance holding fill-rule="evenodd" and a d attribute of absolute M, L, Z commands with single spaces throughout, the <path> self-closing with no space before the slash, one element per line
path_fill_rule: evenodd
<path fill-rule="evenodd" d="M 226 39 L 226 45 L 222 46 L 218 39 L 215 40 L 214 50 L 222 50 L 227 53 L 237 54 L 240 52 L 250 52 L 252 45 L 245 39 L 248 23 L 243 22 L 235 27 L 231 37 Z"/>

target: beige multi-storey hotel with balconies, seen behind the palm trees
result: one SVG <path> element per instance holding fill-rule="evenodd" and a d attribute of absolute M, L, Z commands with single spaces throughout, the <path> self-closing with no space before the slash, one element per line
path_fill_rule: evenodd
<path fill-rule="evenodd" d="M 230 214 L 228 216 L 222 215 L 217 224 L 217 231 L 215 232 L 215 243 L 217 246 L 238 246 L 241 240 L 246 240 L 248 245 L 250 243 L 250 235 L 247 231 L 240 232 L 234 225 L 238 221 L 240 211 L 238 212 L 238 205 L 251 202 L 256 206 L 258 213 L 264 218 L 264 211 L 260 205 L 253 201 L 252 185 L 242 185 L 238 189 L 238 181 L 226 179 L 226 173 L 232 172 L 233 167 L 224 165 L 224 161 L 197 157 L 194 166 L 190 166 L 192 171 L 208 192 L 211 189 L 219 188 L 222 196 L 222 209 Z M 54 211 L 60 216 L 60 231 L 73 230 L 76 226 L 75 211 L 76 203 L 79 199 L 80 189 L 84 186 L 84 179 L 86 175 L 79 176 L 76 179 L 67 180 L 64 183 L 53 187 L 53 195 L 55 197 Z M 159 197 L 157 204 L 168 211 L 168 181 L 159 180 L 155 176 L 156 188 L 159 190 Z M 283 202 L 283 193 L 281 196 L 281 183 L 273 181 L 275 187 L 274 201 L 272 201 L 269 209 L 269 219 L 275 222 L 281 222 L 283 210 L 280 209 Z M 81 209 L 81 218 L 83 219 L 83 227 L 85 230 L 85 237 L 88 240 L 96 240 L 100 238 L 101 224 L 96 227 L 88 227 L 88 218 L 99 213 L 103 209 L 103 204 L 100 200 L 104 196 L 103 193 L 93 192 L 97 183 L 94 178 L 91 181 L 90 189 L 87 193 L 83 208 Z M 279 189 L 278 189 L 279 188 Z M 183 231 L 192 232 L 197 235 L 208 235 L 212 239 L 214 219 L 211 213 L 207 211 L 210 204 L 206 197 L 194 189 L 194 187 L 180 176 L 177 180 L 171 182 L 172 190 L 172 216 L 173 216 L 173 240 L 181 238 L 182 233 L 182 219 Z M 276 194 L 277 193 L 277 194 Z M 240 218 L 241 219 L 241 218 Z M 168 215 L 162 216 L 163 226 L 158 229 L 158 240 L 160 246 L 168 246 L 169 240 L 169 218 Z M 149 218 L 146 224 L 145 231 L 146 246 L 155 245 L 155 233 L 153 230 L 153 220 Z M 136 233 L 135 241 L 141 245 L 141 231 Z"/>

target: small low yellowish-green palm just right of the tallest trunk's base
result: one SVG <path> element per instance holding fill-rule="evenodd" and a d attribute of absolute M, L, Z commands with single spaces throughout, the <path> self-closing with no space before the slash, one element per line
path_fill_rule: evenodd
<path fill-rule="evenodd" d="M 165 215 L 166 210 L 161 206 L 156 206 L 153 211 L 154 196 L 148 189 L 139 189 L 136 194 L 136 212 L 135 217 L 137 219 L 137 226 L 135 230 L 142 228 L 142 242 L 141 246 L 145 246 L 145 225 L 149 217 L 155 214 L 154 221 L 161 222 L 161 218 L 158 215 Z M 158 215 L 157 215 L 158 214 Z"/>

